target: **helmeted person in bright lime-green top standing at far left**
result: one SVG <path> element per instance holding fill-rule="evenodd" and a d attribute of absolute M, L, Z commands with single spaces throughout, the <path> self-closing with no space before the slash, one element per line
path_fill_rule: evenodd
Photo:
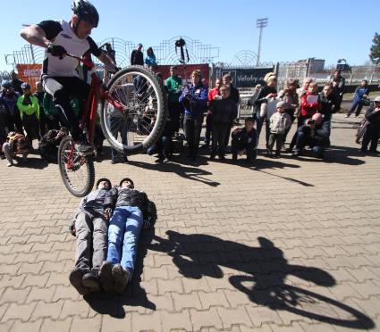
<path fill-rule="evenodd" d="M 17 99 L 17 107 L 20 111 L 22 126 L 27 133 L 27 142 L 33 149 L 32 141 L 34 138 L 39 139 L 39 103 L 38 97 L 31 95 L 30 85 L 21 84 L 23 95 Z"/>

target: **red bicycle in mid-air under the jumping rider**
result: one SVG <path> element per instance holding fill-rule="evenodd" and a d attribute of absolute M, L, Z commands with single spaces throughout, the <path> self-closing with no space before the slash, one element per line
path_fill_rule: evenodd
<path fill-rule="evenodd" d="M 97 109 L 100 126 L 109 144 L 120 153 L 137 154 L 156 142 L 165 127 L 167 104 L 162 80 L 142 66 L 117 71 L 105 86 L 95 64 L 66 54 L 88 66 L 91 73 L 89 96 L 80 128 L 94 146 Z M 95 146 L 94 146 L 95 150 Z M 71 136 L 64 137 L 58 148 L 58 165 L 64 186 L 77 197 L 88 195 L 94 186 L 95 168 L 91 154 L 80 154 Z"/>

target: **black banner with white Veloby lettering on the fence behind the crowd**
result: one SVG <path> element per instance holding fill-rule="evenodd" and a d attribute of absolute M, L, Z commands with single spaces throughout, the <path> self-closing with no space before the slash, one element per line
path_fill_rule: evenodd
<path fill-rule="evenodd" d="M 255 87 L 257 84 L 265 85 L 264 77 L 266 73 L 273 71 L 271 68 L 251 68 L 251 69 L 228 69 L 222 70 L 222 76 L 230 73 L 234 87 Z"/>

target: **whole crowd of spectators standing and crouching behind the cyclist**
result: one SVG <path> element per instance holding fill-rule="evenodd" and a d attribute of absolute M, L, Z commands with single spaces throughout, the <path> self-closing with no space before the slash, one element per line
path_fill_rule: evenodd
<path fill-rule="evenodd" d="M 131 65 L 145 65 L 157 71 L 156 56 L 152 47 L 148 47 L 144 58 L 143 46 L 139 44 L 131 53 Z M 159 73 L 158 73 L 159 74 Z M 160 76 L 161 77 L 161 76 Z M 139 78 L 136 78 L 139 79 Z M 252 162 L 257 156 L 258 140 L 262 128 L 266 129 L 266 156 L 279 158 L 281 152 L 300 156 L 309 147 L 311 154 L 324 158 L 325 147 L 330 145 L 332 114 L 339 111 L 342 103 L 344 79 L 336 71 L 330 83 L 318 91 L 317 82 L 306 78 L 300 83 L 290 79 L 283 89 L 277 91 L 277 79 L 274 73 L 268 73 L 264 86 L 257 85 L 248 104 L 252 106 L 251 117 L 246 119 L 243 128 L 232 130 L 238 117 L 240 103 L 239 90 L 233 86 L 230 74 L 215 79 L 215 87 L 208 88 L 201 71 L 193 71 L 190 84 L 184 85 L 178 74 L 178 68 L 170 68 L 170 76 L 163 79 L 165 97 L 168 102 L 168 117 L 165 129 L 156 144 L 148 148 L 148 154 L 157 154 L 156 162 L 170 162 L 176 151 L 173 139 L 182 139 L 185 152 L 190 160 L 197 160 L 199 151 L 208 154 L 210 160 L 216 155 L 220 161 L 232 152 L 232 162 L 245 154 Z M 138 82 L 133 82 L 138 84 Z M 60 125 L 58 112 L 51 95 L 44 93 L 40 82 L 36 92 L 31 94 L 28 83 L 22 82 L 13 72 L 13 80 L 2 85 L 0 94 L 0 157 L 6 158 L 8 166 L 14 162 L 26 161 L 33 152 L 32 142 L 38 139 L 38 152 L 48 162 L 56 162 L 56 151 L 61 139 L 68 130 Z M 19 92 L 21 91 L 21 93 Z M 356 88 L 347 117 L 352 112 L 359 116 L 363 100 L 367 100 L 369 90 L 367 80 Z M 80 101 L 73 99 L 72 110 L 80 112 Z M 372 104 L 371 112 L 366 113 L 367 134 L 361 152 L 367 151 L 367 145 L 376 141 L 376 122 L 378 102 Z M 285 143 L 292 123 L 297 120 L 297 129 L 291 137 L 289 146 Z M 205 123 L 204 123 L 205 122 Z M 200 144 L 201 130 L 205 126 L 204 144 Z M 97 149 L 101 152 L 103 135 L 97 130 Z M 183 132 L 183 134 L 182 134 Z M 229 142 L 231 139 L 231 148 Z M 378 139 L 378 138 L 377 138 Z M 274 150 L 275 144 L 275 151 Z M 199 150 L 200 149 L 200 150 Z M 376 152 L 375 143 L 369 149 Z M 17 155 L 22 156 L 18 158 Z M 112 163 L 128 162 L 126 154 L 118 155 L 112 151 Z"/>

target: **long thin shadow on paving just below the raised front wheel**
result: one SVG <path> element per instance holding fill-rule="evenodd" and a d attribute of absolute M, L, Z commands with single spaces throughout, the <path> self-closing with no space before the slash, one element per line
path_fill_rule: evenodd
<path fill-rule="evenodd" d="M 220 185 L 219 182 L 212 181 L 209 178 L 206 178 L 207 175 L 212 175 L 211 172 L 207 170 L 201 170 L 198 167 L 183 166 L 182 164 L 176 162 L 152 164 L 148 162 L 130 161 L 128 162 L 128 164 L 131 166 L 136 166 L 148 170 L 175 173 L 181 178 L 187 178 L 193 181 L 198 181 L 211 187 L 217 187 Z"/>

